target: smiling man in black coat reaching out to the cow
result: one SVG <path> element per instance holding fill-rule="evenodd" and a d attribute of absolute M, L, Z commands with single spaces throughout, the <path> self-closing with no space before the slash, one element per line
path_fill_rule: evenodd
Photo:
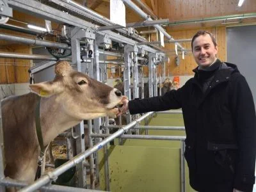
<path fill-rule="evenodd" d="M 252 92 L 236 65 L 216 58 L 216 40 L 198 31 L 191 42 L 198 67 L 182 88 L 160 97 L 127 100 L 120 113 L 182 108 L 184 156 L 196 191 L 252 191 L 256 117 Z"/>

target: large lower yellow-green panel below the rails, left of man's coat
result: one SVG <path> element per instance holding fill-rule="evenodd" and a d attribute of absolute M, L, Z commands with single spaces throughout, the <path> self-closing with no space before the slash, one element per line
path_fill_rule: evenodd
<path fill-rule="evenodd" d="M 109 150 L 111 191 L 180 191 L 179 148 L 111 146 Z M 105 190 L 103 163 L 100 189 Z"/>

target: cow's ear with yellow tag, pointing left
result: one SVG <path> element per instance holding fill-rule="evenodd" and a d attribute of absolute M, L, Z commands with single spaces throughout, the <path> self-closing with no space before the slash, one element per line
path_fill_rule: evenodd
<path fill-rule="evenodd" d="M 29 87 L 33 92 L 40 95 L 41 97 L 50 97 L 51 95 L 62 92 L 61 86 L 57 82 L 29 84 Z"/>

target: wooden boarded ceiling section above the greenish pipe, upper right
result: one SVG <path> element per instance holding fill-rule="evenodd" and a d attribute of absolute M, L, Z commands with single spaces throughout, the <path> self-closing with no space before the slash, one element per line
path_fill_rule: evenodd
<path fill-rule="evenodd" d="M 201 19 L 221 15 L 252 13 L 256 10 L 255 0 L 246 0 L 237 6 L 237 0 L 161 0 L 158 1 L 158 16 L 171 21 Z"/>

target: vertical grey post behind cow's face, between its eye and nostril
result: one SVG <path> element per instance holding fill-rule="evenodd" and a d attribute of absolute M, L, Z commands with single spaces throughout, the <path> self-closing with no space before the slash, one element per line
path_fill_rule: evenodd
<path fill-rule="evenodd" d="M 94 60 L 93 60 L 93 77 L 97 81 L 100 81 L 100 65 L 99 65 L 99 45 L 97 43 L 97 39 L 94 41 Z M 101 118 L 95 118 L 93 120 L 94 125 L 94 132 L 101 134 L 102 130 L 100 129 L 101 125 Z M 102 140 L 102 138 L 95 138 L 95 143 L 99 143 Z M 96 159 L 96 178 L 99 180 L 99 158 L 98 153 L 95 152 L 95 159 Z"/>

